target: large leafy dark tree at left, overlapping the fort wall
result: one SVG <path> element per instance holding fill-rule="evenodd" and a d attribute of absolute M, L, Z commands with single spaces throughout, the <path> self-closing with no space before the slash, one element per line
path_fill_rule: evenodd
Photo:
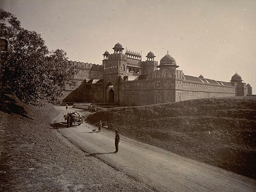
<path fill-rule="evenodd" d="M 0 38 L 8 51 L 0 52 L 0 91 L 16 95 L 26 103 L 40 99 L 60 102 L 65 85 L 75 85 L 77 66 L 71 66 L 64 50 L 49 52 L 41 35 L 23 29 L 20 21 L 0 9 Z"/>

